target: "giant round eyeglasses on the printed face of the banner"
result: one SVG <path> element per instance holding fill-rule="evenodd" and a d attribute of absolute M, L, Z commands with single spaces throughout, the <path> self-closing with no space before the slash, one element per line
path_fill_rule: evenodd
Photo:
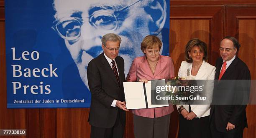
<path fill-rule="evenodd" d="M 131 6 L 135 5 L 136 3 L 140 2 L 141 0 L 137 0 L 136 2 L 124 7 L 124 8 L 121 8 L 119 10 L 116 10 L 114 12 L 114 18 L 116 20 L 116 25 L 115 25 L 115 28 L 111 29 L 111 30 L 116 30 L 118 28 L 118 19 L 117 17 L 119 16 L 119 13 L 120 12 L 123 12 L 124 10 L 127 10 L 128 8 L 130 8 Z M 92 24 L 95 28 L 97 28 L 97 25 L 95 25 L 95 23 L 91 23 L 91 18 L 94 16 L 95 13 L 92 13 L 91 15 L 89 15 L 87 18 L 89 18 L 89 23 Z M 54 21 L 54 25 L 51 27 L 53 30 L 56 31 L 56 33 L 63 39 L 66 39 L 66 40 L 76 40 L 78 38 L 80 38 L 81 36 L 81 30 L 79 31 L 79 34 L 77 36 L 74 36 L 74 37 L 67 37 L 67 36 L 64 36 L 60 33 L 59 29 L 57 28 L 57 26 L 60 24 L 60 23 L 63 23 L 64 21 L 67 21 L 67 20 L 77 20 L 77 22 L 80 24 L 80 27 L 83 25 L 84 21 L 80 18 L 76 18 L 76 17 L 69 17 L 69 18 L 62 18 L 62 19 L 59 19 L 59 20 L 56 20 Z"/>

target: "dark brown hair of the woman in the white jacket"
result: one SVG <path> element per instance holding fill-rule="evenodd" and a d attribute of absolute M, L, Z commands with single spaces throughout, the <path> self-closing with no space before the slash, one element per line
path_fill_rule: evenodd
<path fill-rule="evenodd" d="M 188 52 L 190 52 L 191 49 L 193 47 L 195 47 L 195 46 L 198 46 L 200 48 L 200 50 L 204 53 L 205 57 L 203 57 L 203 60 L 207 60 L 208 59 L 207 45 L 206 45 L 206 43 L 204 41 L 201 41 L 198 38 L 192 38 L 191 40 L 189 40 L 187 42 L 186 50 L 185 50 L 185 60 L 188 63 L 192 63 L 193 62 L 192 58 L 189 57 Z"/>

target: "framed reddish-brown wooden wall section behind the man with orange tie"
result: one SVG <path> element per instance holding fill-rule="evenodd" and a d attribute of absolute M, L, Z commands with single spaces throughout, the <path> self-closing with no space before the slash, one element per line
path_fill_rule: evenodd
<path fill-rule="evenodd" d="M 246 63 L 250 69 L 251 78 L 255 80 L 256 5 L 227 5 L 225 14 L 225 35 L 238 38 L 241 43 L 238 57 Z M 256 105 L 248 105 L 246 108 L 248 129 L 244 130 L 244 138 L 256 137 L 255 113 Z"/>

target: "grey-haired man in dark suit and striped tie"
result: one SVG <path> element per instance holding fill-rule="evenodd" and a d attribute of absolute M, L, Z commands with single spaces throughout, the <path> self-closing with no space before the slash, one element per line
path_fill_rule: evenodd
<path fill-rule="evenodd" d="M 92 101 L 88 121 L 91 138 L 122 138 L 125 127 L 124 60 L 118 56 L 121 38 L 102 37 L 103 53 L 92 59 L 87 76 Z"/>

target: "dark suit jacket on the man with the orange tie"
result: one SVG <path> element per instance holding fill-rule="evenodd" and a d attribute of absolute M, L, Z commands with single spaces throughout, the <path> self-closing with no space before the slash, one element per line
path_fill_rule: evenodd
<path fill-rule="evenodd" d="M 220 75 L 221 66 L 223 64 L 222 58 L 218 58 L 216 61 L 216 73 L 215 73 L 215 80 L 218 80 Z M 243 95 L 235 95 L 234 90 L 238 89 L 238 86 L 234 83 L 228 84 L 222 83 L 222 80 L 250 80 L 251 75 L 250 71 L 248 70 L 247 65 L 240 60 L 238 57 L 236 57 L 233 62 L 230 64 L 230 66 L 227 68 L 225 73 L 223 74 L 220 81 L 215 81 L 214 86 L 214 95 L 218 93 L 218 90 L 220 88 L 227 88 L 229 90 L 225 91 L 225 93 L 231 93 L 231 96 L 233 99 L 236 97 L 241 96 L 248 96 L 246 93 L 242 93 Z M 234 81 L 233 81 L 234 82 Z M 237 93 L 236 93 L 237 94 Z M 221 95 L 223 96 L 223 93 L 220 93 L 218 96 L 213 96 L 212 102 L 216 100 L 220 100 Z M 226 100 L 222 98 L 222 100 Z M 228 97 L 227 99 L 229 99 Z M 231 98 L 231 100 L 232 100 Z M 219 101 L 221 102 L 221 101 Z M 225 102 L 225 101 L 224 101 Z M 218 102 L 217 102 L 218 103 Z M 247 127 L 247 120 L 246 120 L 246 104 L 245 105 L 211 105 L 210 110 L 210 120 L 212 119 L 212 114 L 215 115 L 215 123 L 216 129 L 220 132 L 224 133 L 234 133 L 239 130 L 243 130 L 245 127 Z M 226 130 L 226 126 L 228 122 L 235 125 L 235 129 L 233 130 Z"/>

